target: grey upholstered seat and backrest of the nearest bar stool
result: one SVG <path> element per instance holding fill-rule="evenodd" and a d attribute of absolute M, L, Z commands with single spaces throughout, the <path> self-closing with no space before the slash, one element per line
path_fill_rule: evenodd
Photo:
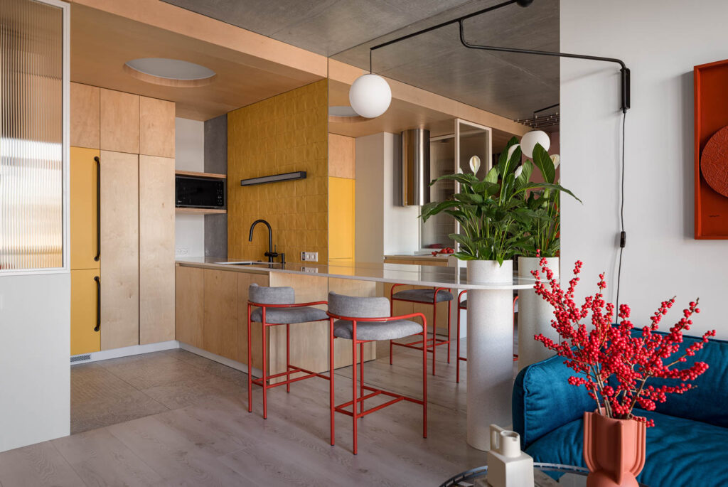
<path fill-rule="evenodd" d="M 328 293 L 328 310 L 331 314 L 352 318 L 389 317 L 387 298 L 360 298 Z M 347 320 L 336 320 L 333 334 L 339 338 L 353 338 L 353 324 Z M 422 333 L 422 325 L 410 320 L 389 322 L 357 321 L 357 340 L 394 340 Z"/>

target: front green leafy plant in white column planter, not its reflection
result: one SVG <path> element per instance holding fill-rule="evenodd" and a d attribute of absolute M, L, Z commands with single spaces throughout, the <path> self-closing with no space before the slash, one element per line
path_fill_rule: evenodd
<path fill-rule="evenodd" d="M 451 215 L 460 224 L 460 232 L 449 237 L 460 244 L 454 256 L 461 260 L 503 261 L 523 253 L 531 245 L 531 232 L 538 228 L 539 211 L 528 205 L 529 191 L 566 190 L 553 182 L 531 183 L 534 164 L 521 162 L 521 148 L 514 137 L 502 151 L 498 164 L 491 168 L 481 181 L 472 174 L 444 175 L 430 185 L 442 180 L 459 183 L 459 192 L 451 199 L 430 202 L 422 207 L 423 221 L 439 213 Z M 553 164 L 552 164 L 553 165 Z M 540 167 L 539 167 L 540 169 Z M 553 181 L 553 178 L 552 178 Z M 574 196 L 571 194 L 571 196 Z"/>

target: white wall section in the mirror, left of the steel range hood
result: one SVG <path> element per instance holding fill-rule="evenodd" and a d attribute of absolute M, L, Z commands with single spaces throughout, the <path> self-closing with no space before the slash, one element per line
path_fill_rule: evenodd
<path fill-rule="evenodd" d="M 355 258 L 381 262 L 385 254 L 419 250 L 419 207 L 395 202 L 399 135 L 380 132 L 356 139 Z"/>

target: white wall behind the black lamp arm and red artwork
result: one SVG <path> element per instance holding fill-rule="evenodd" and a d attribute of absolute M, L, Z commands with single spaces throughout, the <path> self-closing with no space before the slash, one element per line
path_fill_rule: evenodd
<path fill-rule="evenodd" d="M 700 297 L 692 333 L 728 338 L 728 242 L 693 239 L 695 65 L 728 58 L 724 0 L 561 0 L 561 50 L 622 58 L 632 71 L 627 114 L 625 226 L 620 301 L 633 321 L 649 322 L 660 301 L 679 309 Z M 616 284 L 619 229 L 619 66 L 561 60 L 561 181 L 583 205 L 563 198 L 562 277 L 585 265 L 580 287 L 597 274 Z M 678 320 L 669 314 L 667 328 Z"/>

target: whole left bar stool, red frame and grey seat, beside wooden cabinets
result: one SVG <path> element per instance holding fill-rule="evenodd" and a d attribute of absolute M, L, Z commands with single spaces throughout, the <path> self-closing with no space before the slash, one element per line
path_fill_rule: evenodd
<path fill-rule="evenodd" d="M 313 308 L 317 304 L 326 304 L 326 301 L 312 303 L 298 303 L 293 288 L 266 288 L 255 283 L 248 288 L 248 412 L 253 412 L 253 384 L 263 387 L 263 418 L 268 418 L 268 389 L 285 384 L 286 392 L 290 392 L 292 382 L 302 381 L 311 377 L 320 377 L 329 380 L 328 376 L 304 368 L 290 365 L 290 323 L 304 323 L 328 320 L 328 314 L 323 309 Z M 253 307 L 256 309 L 253 310 Z M 253 379 L 253 346 L 250 333 L 250 324 L 262 324 L 263 342 L 263 376 Z M 285 325 L 285 372 L 266 373 L 266 329 L 271 326 Z M 290 378 L 290 374 L 302 372 L 305 376 Z M 285 376 L 285 381 L 269 384 L 270 379 Z"/>

